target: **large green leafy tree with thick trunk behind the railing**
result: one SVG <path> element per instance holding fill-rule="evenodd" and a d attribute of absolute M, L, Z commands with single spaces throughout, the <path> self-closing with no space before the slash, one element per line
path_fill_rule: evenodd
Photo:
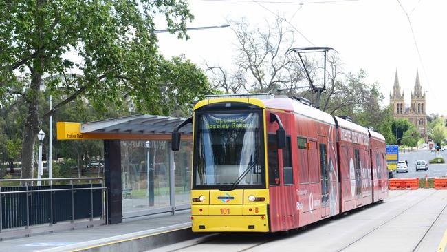
<path fill-rule="evenodd" d="M 119 106 L 130 96 L 149 111 L 164 105 L 153 99 L 154 94 L 167 91 L 171 93 L 164 96 L 184 96 L 181 89 L 166 89 L 157 75 L 166 60 L 157 54 L 154 33 L 154 17 L 162 14 L 168 30 L 179 30 L 179 38 L 187 37 L 186 23 L 193 15 L 184 0 L 1 1 L 0 12 L 0 92 L 3 99 L 21 95 L 27 107 L 22 178 L 33 174 L 44 78 L 58 75 L 45 81 L 45 87 L 65 99 L 43 118 L 79 96 L 86 96 L 99 109 L 105 109 L 104 101 Z M 208 91 L 206 81 L 193 89 L 187 87 L 188 98 Z"/>

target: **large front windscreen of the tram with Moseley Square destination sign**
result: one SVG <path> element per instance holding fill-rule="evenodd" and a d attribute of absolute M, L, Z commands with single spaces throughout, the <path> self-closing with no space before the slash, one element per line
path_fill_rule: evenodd
<path fill-rule="evenodd" d="M 195 185 L 263 185 L 258 112 L 199 114 L 195 123 Z"/>

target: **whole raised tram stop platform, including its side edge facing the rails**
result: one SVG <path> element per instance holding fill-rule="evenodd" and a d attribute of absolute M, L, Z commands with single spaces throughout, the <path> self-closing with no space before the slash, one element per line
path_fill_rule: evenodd
<path fill-rule="evenodd" d="M 133 218 L 121 224 L 59 231 L 0 242 L 0 251 L 143 251 L 197 238 L 190 211 Z"/>

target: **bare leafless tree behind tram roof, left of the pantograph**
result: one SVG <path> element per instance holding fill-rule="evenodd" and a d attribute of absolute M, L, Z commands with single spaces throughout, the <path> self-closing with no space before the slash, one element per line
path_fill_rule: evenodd
<path fill-rule="evenodd" d="M 207 63 L 213 87 L 226 93 L 245 90 L 276 94 L 290 92 L 301 84 L 303 72 L 298 62 L 286 55 L 294 45 L 294 32 L 284 28 L 283 19 L 265 21 L 265 30 L 252 28 L 246 19 L 228 23 L 237 40 L 235 69 Z"/>

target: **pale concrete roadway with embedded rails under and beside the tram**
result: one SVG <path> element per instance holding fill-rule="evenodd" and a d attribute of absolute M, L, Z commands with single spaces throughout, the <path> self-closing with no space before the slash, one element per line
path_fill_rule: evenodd
<path fill-rule="evenodd" d="M 292 233 L 218 233 L 153 252 L 446 251 L 447 190 L 390 191 L 384 202 Z"/>

